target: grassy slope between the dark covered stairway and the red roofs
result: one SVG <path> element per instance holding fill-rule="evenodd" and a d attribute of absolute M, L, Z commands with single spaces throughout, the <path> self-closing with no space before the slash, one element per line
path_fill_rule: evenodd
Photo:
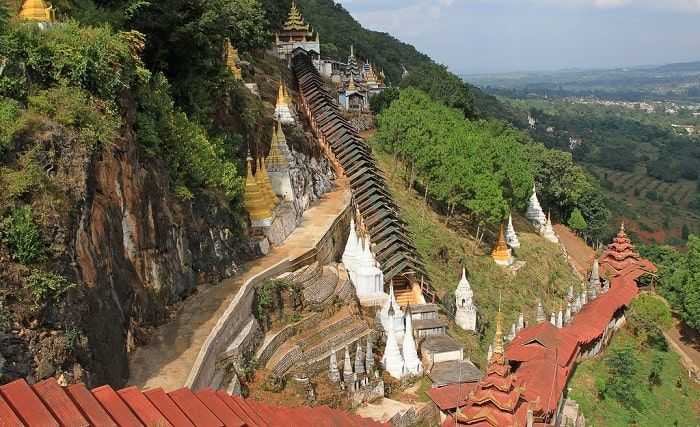
<path fill-rule="evenodd" d="M 389 177 L 391 159 L 378 147 L 373 148 L 379 167 Z M 497 266 L 489 255 L 495 230 L 491 230 L 485 239 L 488 242 L 475 253 L 474 239 L 460 225 L 461 219 L 451 221 L 450 228 L 446 227 L 444 217 L 427 208 L 418 193 L 407 191 L 399 175 L 397 173 L 394 182 L 389 182 L 390 190 L 401 210 L 401 218 L 408 223 L 418 251 L 426 262 L 432 284 L 441 297 L 445 292 L 454 291 L 461 274 L 460 265 L 463 260 L 466 263 L 476 305 L 487 329 L 481 342 L 454 324 L 449 331 L 465 344 L 467 354 L 474 362 L 483 364 L 486 360 L 486 348 L 493 339 L 493 319 L 498 309 L 499 292 L 505 316 L 504 328 L 510 328 L 520 311 L 525 313 L 526 320 L 534 322 L 537 298 L 543 300 L 545 309 L 558 309 L 569 286 L 580 284 L 580 279 L 572 272 L 559 247 L 536 234 L 519 214 L 514 216 L 514 226 L 522 244 L 517 258 L 527 260 L 527 265 L 517 276 L 511 276 L 507 270 Z"/>

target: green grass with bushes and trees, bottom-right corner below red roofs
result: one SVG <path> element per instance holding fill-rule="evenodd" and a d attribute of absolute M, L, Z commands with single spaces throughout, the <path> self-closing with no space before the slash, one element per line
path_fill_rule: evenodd
<path fill-rule="evenodd" d="M 694 426 L 700 389 L 689 382 L 679 357 L 659 331 L 670 326 L 668 306 L 652 294 L 637 296 L 627 310 L 629 329 L 618 331 L 601 358 L 578 364 L 569 382 L 587 423 L 594 425 Z"/>

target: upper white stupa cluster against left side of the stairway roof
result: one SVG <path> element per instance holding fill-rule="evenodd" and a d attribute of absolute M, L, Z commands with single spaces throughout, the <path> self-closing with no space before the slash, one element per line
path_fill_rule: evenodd
<path fill-rule="evenodd" d="M 350 233 L 343 251 L 343 264 L 360 303 L 379 305 L 386 300 L 384 273 L 372 253 L 369 233 L 364 229 L 362 217 L 357 212 L 360 232 L 355 228 L 355 219 L 350 220 Z M 372 304 L 374 303 L 374 304 Z"/>

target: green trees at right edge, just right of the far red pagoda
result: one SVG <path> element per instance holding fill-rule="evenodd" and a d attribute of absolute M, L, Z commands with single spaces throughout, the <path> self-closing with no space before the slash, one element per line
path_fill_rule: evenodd
<path fill-rule="evenodd" d="M 690 235 L 685 253 L 657 245 L 640 245 L 639 252 L 659 268 L 658 292 L 688 326 L 700 331 L 700 238 Z"/>

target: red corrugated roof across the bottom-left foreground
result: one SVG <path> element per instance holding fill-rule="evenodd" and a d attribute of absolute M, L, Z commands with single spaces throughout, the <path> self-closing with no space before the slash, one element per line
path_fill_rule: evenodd
<path fill-rule="evenodd" d="M 82 384 L 61 387 L 48 379 L 30 386 L 17 380 L 0 387 L 0 426 L 386 426 L 325 406 L 283 408 L 231 396 L 223 390 L 165 393 L 136 387 L 119 391 Z"/>

